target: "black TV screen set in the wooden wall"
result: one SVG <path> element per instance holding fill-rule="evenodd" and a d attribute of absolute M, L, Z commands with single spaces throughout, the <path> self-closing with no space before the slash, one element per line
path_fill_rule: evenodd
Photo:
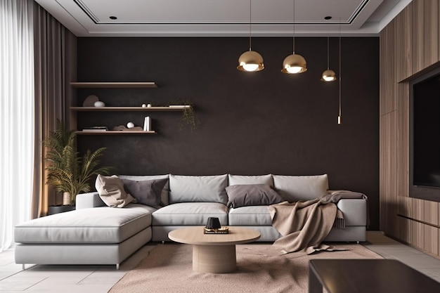
<path fill-rule="evenodd" d="M 440 74 L 413 84 L 413 185 L 440 188 Z"/>

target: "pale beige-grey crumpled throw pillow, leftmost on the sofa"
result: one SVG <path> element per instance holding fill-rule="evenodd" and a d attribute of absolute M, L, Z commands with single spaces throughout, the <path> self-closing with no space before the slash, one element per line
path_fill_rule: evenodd
<path fill-rule="evenodd" d="M 109 207 L 125 207 L 130 202 L 136 202 L 134 197 L 125 192 L 124 183 L 115 175 L 98 175 L 96 177 L 95 188 L 101 200 Z"/>

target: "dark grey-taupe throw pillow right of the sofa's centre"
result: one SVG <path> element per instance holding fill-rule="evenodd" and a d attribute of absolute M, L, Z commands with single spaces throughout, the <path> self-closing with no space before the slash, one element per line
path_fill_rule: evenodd
<path fill-rule="evenodd" d="M 267 184 L 231 185 L 226 188 L 228 207 L 271 205 L 283 202 L 275 190 Z"/>

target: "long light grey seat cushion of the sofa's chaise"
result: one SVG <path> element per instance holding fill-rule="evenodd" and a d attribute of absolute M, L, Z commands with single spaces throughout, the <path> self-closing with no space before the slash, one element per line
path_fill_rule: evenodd
<path fill-rule="evenodd" d="M 120 243 L 151 226 L 155 210 L 142 204 L 128 204 L 122 209 L 95 207 L 44 216 L 15 226 L 15 242 Z"/>

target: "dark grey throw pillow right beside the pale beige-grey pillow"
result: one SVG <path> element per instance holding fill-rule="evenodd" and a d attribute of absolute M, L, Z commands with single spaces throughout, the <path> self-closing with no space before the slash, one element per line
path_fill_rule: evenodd
<path fill-rule="evenodd" d="M 160 195 L 168 179 L 135 181 L 122 178 L 122 182 L 125 191 L 136 198 L 138 204 L 160 207 Z"/>

